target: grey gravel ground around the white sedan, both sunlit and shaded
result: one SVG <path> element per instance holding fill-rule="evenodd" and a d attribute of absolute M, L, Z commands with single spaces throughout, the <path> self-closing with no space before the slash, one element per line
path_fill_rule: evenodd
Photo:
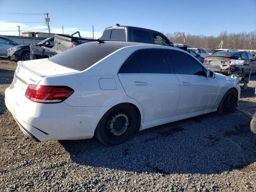
<path fill-rule="evenodd" d="M 165 124 L 106 147 L 94 138 L 26 138 L 4 105 L 15 68 L 0 58 L 0 191 L 256 191 L 256 76 L 232 114 Z"/>

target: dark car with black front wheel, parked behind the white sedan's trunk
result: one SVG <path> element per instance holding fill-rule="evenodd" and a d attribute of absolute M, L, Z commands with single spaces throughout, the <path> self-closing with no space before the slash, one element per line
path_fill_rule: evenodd
<path fill-rule="evenodd" d="M 37 47 L 47 47 L 47 48 L 52 48 L 54 46 L 54 38 L 50 37 L 47 39 L 42 40 L 35 46 Z M 20 45 L 20 46 L 15 46 L 11 47 L 7 50 L 8 58 L 10 60 L 14 61 L 28 61 L 30 60 L 30 45 Z M 34 55 L 34 59 L 42 59 L 42 58 L 47 58 L 47 55 Z"/>

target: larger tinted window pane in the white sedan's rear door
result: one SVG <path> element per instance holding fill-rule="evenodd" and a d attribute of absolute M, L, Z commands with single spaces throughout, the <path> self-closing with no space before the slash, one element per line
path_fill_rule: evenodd
<path fill-rule="evenodd" d="M 141 50 L 136 58 L 139 73 L 170 73 L 164 50 Z"/>

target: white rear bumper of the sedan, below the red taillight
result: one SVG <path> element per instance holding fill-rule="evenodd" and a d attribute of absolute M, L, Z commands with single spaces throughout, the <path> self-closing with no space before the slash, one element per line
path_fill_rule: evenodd
<path fill-rule="evenodd" d="M 16 102 L 9 88 L 5 104 L 26 136 L 35 141 L 78 140 L 94 136 L 101 117 L 110 107 L 70 107 L 64 102 L 38 104 L 24 96 Z M 23 107 L 24 106 L 24 107 Z"/>

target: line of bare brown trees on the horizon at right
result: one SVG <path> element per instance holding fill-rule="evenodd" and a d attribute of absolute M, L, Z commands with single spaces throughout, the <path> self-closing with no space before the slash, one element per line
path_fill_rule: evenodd
<path fill-rule="evenodd" d="M 166 36 L 174 42 L 174 38 L 180 32 L 166 33 Z M 221 32 L 218 36 L 204 36 L 186 34 L 186 44 L 192 48 L 216 49 L 223 39 L 223 49 L 248 49 L 256 50 L 256 30 L 252 32 L 228 33 Z M 183 43 L 183 37 L 178 37 L 174 43 Z"/>

